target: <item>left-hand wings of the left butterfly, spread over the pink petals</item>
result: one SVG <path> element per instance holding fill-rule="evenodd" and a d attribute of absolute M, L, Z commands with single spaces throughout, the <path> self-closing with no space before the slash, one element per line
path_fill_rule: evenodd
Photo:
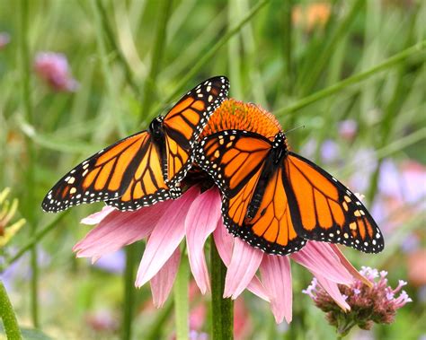
<path fill-rule="evenodd" d="M 41 206 L 57 213 L 73 205 L 107 202 L 133 210 L 179 196 L 164 183 L 148 132 L 130 135 L 77 165 L 51 188 Z"/>

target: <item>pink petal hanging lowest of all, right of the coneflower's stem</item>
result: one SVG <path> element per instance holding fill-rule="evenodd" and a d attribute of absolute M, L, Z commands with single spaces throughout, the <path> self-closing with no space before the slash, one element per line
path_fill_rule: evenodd
<path fill-rule="evenodd" d="M 262 283 L 270 297 L 275 321 L 280 324 L 286 318 L 286 321 L 290 323 L 293 301 L 290 260 L 288 257 L 264 255 L 260 270 Z"/>

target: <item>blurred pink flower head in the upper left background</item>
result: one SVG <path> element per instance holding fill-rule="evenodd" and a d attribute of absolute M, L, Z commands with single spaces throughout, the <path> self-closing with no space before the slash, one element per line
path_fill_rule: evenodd
<path fill-rule="evenodd" d="M 34 62 L 36 73 L 59 92 L 75 92 L 78 83 L 69 73 L 67 57 L 62 53 L 40 52 Z"/>

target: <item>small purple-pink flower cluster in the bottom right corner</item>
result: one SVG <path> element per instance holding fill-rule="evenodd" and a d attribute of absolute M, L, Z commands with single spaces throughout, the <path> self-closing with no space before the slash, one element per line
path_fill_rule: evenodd
<path fill-rule="evenodd" d="M 355 325 L 362 329 L 371 329 L 374 323 L 391 324 L 395 320 L 396 310 L 412 301 L 408 294 L 401 290 L 407 283 L 399 280 L 397 287 L 392 288 L 387 283 L 386 271 L 378 272 L 377 269 L 363 266 L 359 273 L 368 281 L 355 279 L 349 286 L 339 285 L 345 301 L 351 307 L 347 311 L 333 301 L 316 278 L 303 291 L 311 297 L 316 307 L 326 313 L 328 322 L 336 327 L 341 335 L 348 334 Z"/>

